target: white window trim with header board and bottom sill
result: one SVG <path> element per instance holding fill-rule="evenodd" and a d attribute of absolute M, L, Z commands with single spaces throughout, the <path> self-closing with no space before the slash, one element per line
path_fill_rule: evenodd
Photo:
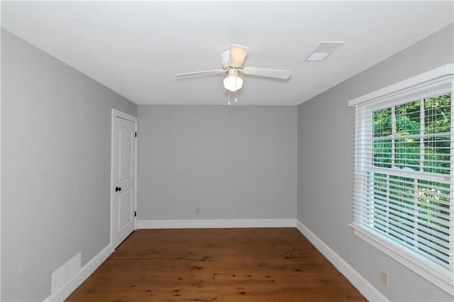
<path fill-rule="evenodd" d="M 446 77 L 446 76 L 453 76 L 454 74 L 454 64 L 448 64 L 448 65 L 443 65 L 441 67 L 438 67 L 436 69 L 432 69 L 431 71 L 425 72 L 423 74 L 419 74 L 416 77 L 411 77 L 409 79 L 406 79 L 402 82 L 398 82 L 396 84 L 392 84 L 390 86 L 384 87 L 383 89 L 379 89 L 377 91 L 373 91 L 370 94 L 365 94 L 364 96 L 360 96 L 356 99 L 352 99 L 348 102 L 348 106 L 350 107 L 355 107 L 358 106 L 362 103 L 365 102 L 373 102 L 375 99 L 377 99 L 377 106 L 372 105 L 374 108 L 387 108 L 386 104 L 381 104 L 380 99 L 383 98 L 384 96 L 390 95 L 390 94 L 399 94 L 399 91 L 404 90 L 404 89 L 409 89 L 413 86 L 419 86 L 422 85 L 426 82 L 433 81 L 434 79 L 438 79 L 440 77 Z M 454 112 L 454 79 L 451 80 L 451 114 Z M 384 98 L 385 99 L 385 98 Z M 385 101 L 386 102 L 386 101 Z M 405 104 L 406 102 L 402 102 L 400 104 Z M 358 108 L 358 107 L 357 107 Z M 373 121 L 373 114 L 372 110 L 370 110 L 370 116 L 364 117 L 362 116 L 362 119 L 358 121 L 358 111 L 355 112 L 355 124 L 353 125 L 354 128 L 354 136 L 356 135 L 356 131 L 358 128 L 364 128 L 364 127 L 372 127 L 373 123 L 365 125 L 364 123 L 367 123 L 367 121 Z M 453 121 L 453 118 L 452 118 Z M 358 124 L 360 123 L 360 124 Z M 451 125 L 451 141 L 453 141 L 454 138 L 454 125 Z M 373 129 L 370 132 L 372 133 L 373 136 Z M 373 140 L 373 137 L 368 138 L 370 141 Z M 355 173 L 357 171 L 358 166 L 356 162 L 356 158 L 358 157 L 358 150 L 361 150 L 362 146 L 361 144 L 364 143 L 363 140 L 360 140 L 358 142 L 358 138 L 354 137 L 354 151 L 353 151 L 353 186 L 355 186 Z M 454 147 L 454 146 L 452 146 Z M 373 150 L 373 148 L 372 148 Z M 453 162 L 453 157 L 451 156 L 451 164 L 454 164 Z M 454 178 L 452 175 L 450 175 L 450 186 L 451 189 L 454 188 Z M 453 193 L 451 193 L 450 196 L 450 229 L 454 228 L 454 214 L 452 213 L 452 207 L 453 207 Z M 356 220 L 355 218 L 355 201 L 353 201 L 353 222 L 350 223 L 350 227 L 353 228 L 353 233 L 360 237 L 362 240 L 365 240 L 365 242 L 368 242 L 370 245 L 373 247 L 376 247 L 378 250 L 384 252 L 386 255 L 389 257 L 392 257 L 393 259 L 397 260 L 397 262 L 403 264 L 405 267 L 408 267 L 412 271 L 416 272 L 416 274 L 419 274 L 423 278 L 427 279 L 428 281 L 431 281 L 434 285 L 438 286 L 439 288 L 443 289 L 444 291 L 450 293 L 451 296 L 454 296 L 454 274 L 450 276 L 449 272 L 446 272 L 446 268 L 443 267 L 440 264 L 437 264 L 435 262 L 431 262 L 430 260 L 426 259 L 426 257 L 423 257 L 419 255 L 418 253 L 414 252 L 410 248 L 405 247 L 404 245 L 401 245 L 397 242 L 394 242 L 387 238 L 386 236 L 380 234 L 379 232 L 376 232 L 370 228 L 365 228 L 362 227 L 362 225 Z M 453 245 L 453 242 L 450 241 L 450 245 Z M 453 248 L 450 246 L 450 248 Z M 453 261 L 450 259 L 450 261 Z M 452 263 L 451 263 L 452 264 Z"/>

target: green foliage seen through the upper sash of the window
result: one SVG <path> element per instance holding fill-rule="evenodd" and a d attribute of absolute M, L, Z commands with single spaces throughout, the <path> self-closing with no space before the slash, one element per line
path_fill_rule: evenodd
<path fill-rule="evenodd" d="M 413 101 L 374 111 L 374 166 L 449 174 L 450 104 L 443 94 L 424 99 L 423 108 Z"/>

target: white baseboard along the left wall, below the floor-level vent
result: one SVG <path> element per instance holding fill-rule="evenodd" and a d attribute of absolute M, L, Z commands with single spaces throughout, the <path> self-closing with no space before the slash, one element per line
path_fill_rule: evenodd
<path fill-rule="evenodd" d="M 98 255 L 94 256 L 89 262 L 87 262 L 87 264 L 85 264 L 75 276 L 63 284 L 60 289 L 58 289 L 55 293 L 52 293 L 48 296 L 48 298 L 45 298 L 44 302 L 64 301 L 65 298 L 70 296 L 70 294 L 77 289 L 77 287 L 82 284 L 82 282 L 85 281 L 113 252 L 114 248 L 112 245 L 104 247 Z"/>

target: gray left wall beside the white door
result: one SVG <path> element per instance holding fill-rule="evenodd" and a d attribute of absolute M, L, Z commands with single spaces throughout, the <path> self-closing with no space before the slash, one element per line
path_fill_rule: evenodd
<path fill-rule="evenodd" d="M 1 300 L 42 301 L 50 275 L 110 240 L 111 108 L 137 106 L 1 30 Z"/>

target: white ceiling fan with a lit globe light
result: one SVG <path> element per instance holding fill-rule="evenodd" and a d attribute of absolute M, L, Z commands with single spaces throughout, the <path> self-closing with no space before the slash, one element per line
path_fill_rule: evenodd
<path fill-rule="evenodd" d="M 224 88 L 228 91 L 237 91 L 243 87 L 243 79 L 239 77 L 239 73 L 259 76 L 259 77 L 272 77 L 276 79 L 288 79 L 291 72 L 283 69 L 270 69 L 270 68 L 259 68 L 259 67 L 245 67 L 243 68 L 243 62 L 248 55 L 248 47 L 241 45 L 231 45 L 228 50 L 221 52 L 221 65 L 223 69 L 211 69 L 200 72 L 186 72 L 183 74 L 176 74 L 177 77 L 192 75 L 192 74 L 204 74 L 209 72 L 214 73 L 227 73 L 227 77 L 223 80 Z"/>

